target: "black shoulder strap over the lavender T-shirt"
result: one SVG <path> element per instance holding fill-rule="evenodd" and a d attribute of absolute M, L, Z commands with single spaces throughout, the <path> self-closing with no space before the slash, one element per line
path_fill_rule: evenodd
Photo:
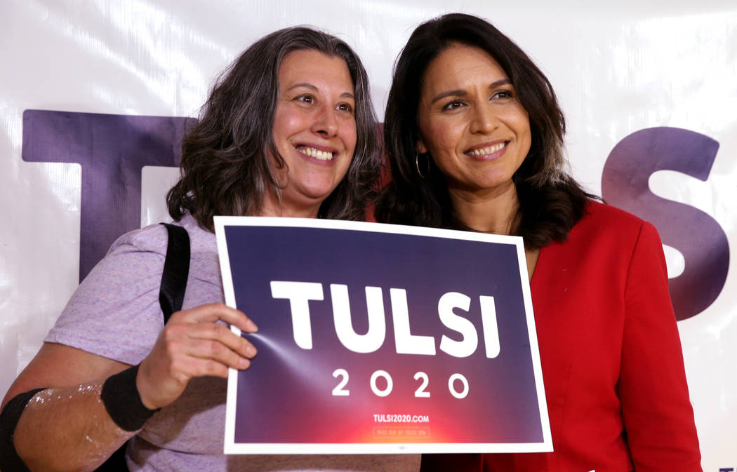
<path fill-rule="evenodd" d="M 186 279 L 189 275 L 189 233 L 178 225 L 161 224 L 167 227 L 169 243 L 164 273 L 161 274 L 158 303 L 164 312 L 164 324 L 167 324 L 172 313 L 181 310 L 184 301 Z"/>

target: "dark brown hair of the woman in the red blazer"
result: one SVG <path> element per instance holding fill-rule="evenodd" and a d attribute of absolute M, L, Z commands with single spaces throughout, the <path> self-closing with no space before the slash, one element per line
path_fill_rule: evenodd
<path fill-rule="evenodd" d="M 391 181 L 377 200 L 375 218 L 403 225 L 470 229 L 455 217 L 444 177 L 432 158 L 426 178 L 416 169 L 423 78 L 430 63 L 452 43 L 478 47 L 492 56 L 529 114 L 532 142 L 513 177 L 520 207 L 511 233 L 523 236 L 530 249 L 565 240 L 584 215 L 587 199 L 595 197 L 565 172 L 565 119 L 553 87 L 511 39 L 489 22 L 462 13 L 419 25 L 399 54 L 384 122 Z"/>

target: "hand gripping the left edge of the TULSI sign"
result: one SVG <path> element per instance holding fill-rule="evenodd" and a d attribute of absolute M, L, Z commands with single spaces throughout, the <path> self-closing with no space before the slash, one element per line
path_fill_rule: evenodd
<path fill-rule="evenodd" d="M 256 348 L 218 321 L 245 333 L 257 330 L 242 311 L 224 303 L 200 305 L 172 314 L 153 349 L 141 362 L 136 377 L 136 387 L 147 408 L 157 409 L 175 401 L 190 378 L 226 378 L 228 367 L 248 368 Z"/>

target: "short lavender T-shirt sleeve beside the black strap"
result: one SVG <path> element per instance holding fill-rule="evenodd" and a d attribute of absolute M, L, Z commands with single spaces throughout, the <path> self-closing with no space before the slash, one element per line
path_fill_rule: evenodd
<path fill-rule="evenodd" d="M 164 327 L 158 291 L 166 241 L 161 225 L 121 236 L 80 283 L 44 341 L 141 362 Z"/>

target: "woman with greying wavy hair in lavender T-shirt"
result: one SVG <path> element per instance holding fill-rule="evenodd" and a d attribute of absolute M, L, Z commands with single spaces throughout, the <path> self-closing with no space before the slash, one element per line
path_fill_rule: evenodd
<path fill-rule="evenodd" d="M 10 388 L 2 470 L 91 471 L 127 443 L 133 471 L 416 471 L 411 454 L 223 454 L 228 368 L 259 361 L 219 323 L 256 331 L 223 303 L 213 216 L 363 219 L 375 133 L 366 71 L 342 40 L 295 27 L 243 52 L 186 133 L 167 195 L 191 247 L 181 311 L 164 325 L 167 229 L 121 236 Z"/>

